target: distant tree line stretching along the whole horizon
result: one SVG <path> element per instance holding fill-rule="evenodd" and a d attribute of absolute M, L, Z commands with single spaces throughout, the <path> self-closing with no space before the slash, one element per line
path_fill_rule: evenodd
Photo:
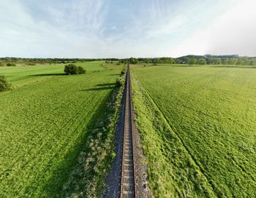
<path fill-rule="evenodd" d="M 37 64 L 75 64 L 88 61 L 105 61 L 105 63 L 130 64 L 188 64 L 188 65 L 237 65 L 256 66 L 256 57 L 238 55 L 187 55 L 180 58 L 0 58 L 0 66 L 35 66 Z"/>

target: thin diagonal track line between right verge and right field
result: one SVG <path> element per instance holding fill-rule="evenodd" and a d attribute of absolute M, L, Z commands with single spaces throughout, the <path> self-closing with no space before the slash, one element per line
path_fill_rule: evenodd
<path fill-rule="evenodd" d="M 159 106 L 157 105 L 157 103 L 155 102 L 155 100 L 151 97 L 150 93 L 148 92 L 148 90 L 146 89 L 146 87 L 143 85 L 142 82 L 140 82 L 140 80 L 138 79 L 138 76 L 135 75 L 135 72 L 132 72 L 133 75 L 135 77 L 135 79 L 137 79 L 137 81 L 140 83 L 141 87 L 143 87 L 143 89 L 145 90 L 146 94 L 148 95 L 148 98 L 151 100 L 151 103 L 154 104 L 154 106 L 157 108 L 157 110 L 159 111 L 159 113 L 162 115 L 162 118 L 165 119 L 165 122 L 167 123 L 168 127 L 170 127 L 170 129 L 173 131 L 173 133 L 176 135 L 176 138 L 178 138 L 178 140 L 180 140 L 182 146 L 184 146 L 185 150 L 187 151 L 187 154 L 189 154 L 189 157 L 192 158 L 192 160 L 195 162 L 195 165 L 199 168 L 200 173 L 202 173 L 202 175 L 204 176 L 204 178 L 206 178 L 206 181 L 208 182 L 208 184 L 211 186 L 211 190 L 214 192 L 214 194 L 217 196 L 217 193 L 215 191 L 216 186 L 214 185 L 214 183 L 209 182 L 209 178 L 207 177 L 207 175 L 204 173 L 203 168 L 200 166 L 200 164 L 197 162 L 197 160 L 195 159 L 195 157 L 193 157 L 193 155 L 189 152 L 189 148 L 187 148 L 187 146 L 185 145 L 184 141 L 177 135 L 175 128 L 170 124 L 170 122 L 168 121 L 167 117 L 165 116 L 165 114 L 163 114 L 162 110 L 159 108 Z"/>

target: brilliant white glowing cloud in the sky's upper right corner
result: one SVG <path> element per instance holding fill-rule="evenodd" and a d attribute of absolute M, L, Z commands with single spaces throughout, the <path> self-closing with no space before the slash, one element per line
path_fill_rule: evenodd
<path fill-rule="evenodd" d="M 256 55 L 256 1 L 232 4 L 207 28 L 198 30 L 172 50 L 172 55 Z"/>

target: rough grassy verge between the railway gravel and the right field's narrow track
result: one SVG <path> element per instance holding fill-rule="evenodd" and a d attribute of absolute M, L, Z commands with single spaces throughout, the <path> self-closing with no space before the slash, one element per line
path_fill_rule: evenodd
<path fill-rule="evenodd" d="M 154 197 L 216 197 L 181 140 L 135 75 L 133 100 Z"/>

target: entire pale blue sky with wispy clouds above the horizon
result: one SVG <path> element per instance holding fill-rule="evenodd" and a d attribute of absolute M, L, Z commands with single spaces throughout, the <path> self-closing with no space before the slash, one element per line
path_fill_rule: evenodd
<path fill-rule="evenodd" d="M 256 56 L 253 0 L 1 0 L 0 57 Z"/>

